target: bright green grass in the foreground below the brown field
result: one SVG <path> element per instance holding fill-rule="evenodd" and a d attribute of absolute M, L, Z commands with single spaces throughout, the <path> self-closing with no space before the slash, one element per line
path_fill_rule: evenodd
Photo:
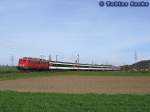
<path fill-rule="evenodd" d="M 150 95 L 0 92 L 0 112 L 150 112 Z"/>

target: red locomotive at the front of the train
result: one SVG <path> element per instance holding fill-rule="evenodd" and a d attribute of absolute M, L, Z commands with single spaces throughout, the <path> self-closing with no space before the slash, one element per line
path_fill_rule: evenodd
<path fill-rule="evenodd" d="M 18 69 L 23 70 L 48 70 L 49 61 L 39 58 L 24 57 L 19 59 Z"/>

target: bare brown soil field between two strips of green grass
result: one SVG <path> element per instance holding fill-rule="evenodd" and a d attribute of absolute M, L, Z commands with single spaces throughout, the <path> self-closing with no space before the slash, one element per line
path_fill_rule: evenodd
<path fill-rule="evenodd" d="M 0 81 L 0 90 L 150 94 L 150 77 L 51 76 Z"/>

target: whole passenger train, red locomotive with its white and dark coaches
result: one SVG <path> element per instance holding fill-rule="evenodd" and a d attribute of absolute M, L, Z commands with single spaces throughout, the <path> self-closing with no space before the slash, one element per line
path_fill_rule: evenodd
<path fill-rule="evenodd" d="M 19 59 L 20 70 L 89 70 L 89 71 L 118 71 L 119 67 L 112 65 L 93 65 L 70 63 L 61 61 L 48 61 L 40 58 L 23 57 Z"/>

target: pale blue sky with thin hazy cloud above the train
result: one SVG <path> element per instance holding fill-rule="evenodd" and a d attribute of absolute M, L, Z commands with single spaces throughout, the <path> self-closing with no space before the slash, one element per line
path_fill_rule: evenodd
<path fill-rule="evenodd" d="M 124 65 L 150 59 L 150 7 L 98 0 L 0 0 L 0 64 L 21 57 Z"/>

